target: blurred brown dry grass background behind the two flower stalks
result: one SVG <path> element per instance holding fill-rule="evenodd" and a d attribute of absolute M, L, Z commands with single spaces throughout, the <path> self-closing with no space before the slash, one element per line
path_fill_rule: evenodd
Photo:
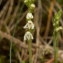
<path fill-rule="evenodd" d="M 54 14 L 63 10 L 63 0 L 35 0 L 35 5 L 31 58 L 33 63 L 54 63 L 52 21 Z M 28 43 L 23 41 L 27 12 L 24 0 L 0 0 L 0 63 L 29 63 Z M 63 11 L 60 26 L 63 27 Z M 58 41 L 58 62 L 61 63 L 63 30 Z"/>

